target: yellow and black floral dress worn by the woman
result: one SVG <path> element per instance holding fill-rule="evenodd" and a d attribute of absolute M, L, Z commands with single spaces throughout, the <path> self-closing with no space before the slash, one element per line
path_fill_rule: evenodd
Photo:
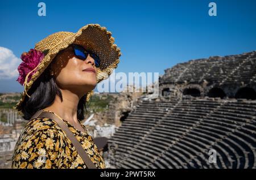
<path fill-rule="evenodd" d="M 80 122 L 85 129 L 86 133 L 84 133 L 65 119 L 63 121 L 79 140 L 96 168 L 105 168 L 105 162 L 98 153 L 96 144 L 93 143 L 93 138 L 88 134 L 86 127 Z M 49 118 L 35 118 L 27 123 L 19 136 L 15 145 L 12 168 L 82 169 L 87 167 L 71 140 L 55 121 Z"/>

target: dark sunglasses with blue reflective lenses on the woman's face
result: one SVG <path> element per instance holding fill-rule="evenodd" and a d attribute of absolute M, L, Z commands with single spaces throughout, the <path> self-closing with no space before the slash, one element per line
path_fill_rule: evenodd
<path fill-rule="evenodd" d="M 100 58 L 98 57 L 97 54 L 90 52 L 89 50 L 86 50 L 84 49 L 84 47 L 77 44 L 71 44 L 71 46 L 77 58 L 84 61 L 88 57 L 88 54 L 90 54 L 90 57 L 94 59 L 95 66 L 100 67 Z"/>

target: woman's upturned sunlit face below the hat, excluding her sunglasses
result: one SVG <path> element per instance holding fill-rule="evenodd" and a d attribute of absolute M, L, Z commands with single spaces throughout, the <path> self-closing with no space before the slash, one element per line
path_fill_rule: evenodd
<path fill-rule="evenodd" d="M 86 68 L 93 68 L 95 72 Z M 59 53 L 51 65 L 51 74 L 55 76 L 57 85 L 61 89 L 68 89 L 81 95 L 96 87 L 96 73 L 94 59 L 90 55 L 85 60 L 77 58 L 71 46 Z"/>

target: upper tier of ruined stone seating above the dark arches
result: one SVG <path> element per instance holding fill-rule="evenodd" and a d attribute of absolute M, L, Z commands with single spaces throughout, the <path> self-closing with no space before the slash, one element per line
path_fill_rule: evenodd
<path fill-rule="evenodd" d="M 167 98 L 182 97 L 186 89 L 197 89 L 204 97 L 213 88 L 233 98 L 244 87 L 256 92 L 256 52 L 179 63 L 159 78 L 159 95 Z"/>

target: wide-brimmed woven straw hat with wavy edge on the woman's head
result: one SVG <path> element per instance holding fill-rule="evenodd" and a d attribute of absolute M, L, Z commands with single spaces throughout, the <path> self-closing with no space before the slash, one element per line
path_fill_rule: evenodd
<path fill-rule="evenodd" d="M 16 104 L 14 109 L 19 109 L 20 104 L 24 101 L 28 90 L 31 88 L 35 80 L 42 74 L 48 67 L 52 59 L 60 52 L 71 44 L 79 44 L 85 46 L 87 50 L 96 53 L 101 60 L 100 67 L 97 68 L 97 83 L 107 79 L 112 73 L 114 68 L 119 63 L 121 56 L 120 49 L 114 44 L 112 33 L 106 31 L 105 27 L 99 24 L 88 24 L 79 29 L 76 33 L 72 32 L 56 32 L 44 38 L 35 45 L 35 50 L 43 54 L 40 63 L 26 74 L 24 81 L 24 92 L 22 98 Z M 28 78 L 28 76 L 31 76 Z M 92 96 L 93 91 L 89 92 L 86 101 Z"/>

